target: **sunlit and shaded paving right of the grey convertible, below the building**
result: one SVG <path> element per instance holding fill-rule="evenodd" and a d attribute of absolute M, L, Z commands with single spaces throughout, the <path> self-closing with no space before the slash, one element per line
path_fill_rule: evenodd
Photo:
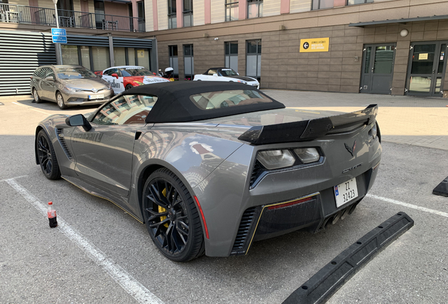
<path fill-rule="evenodd" d="M 351 112 L 377 103 L 383 141 L 448 150 L 448 99 L 263 89 L 290 108 Z"/>

